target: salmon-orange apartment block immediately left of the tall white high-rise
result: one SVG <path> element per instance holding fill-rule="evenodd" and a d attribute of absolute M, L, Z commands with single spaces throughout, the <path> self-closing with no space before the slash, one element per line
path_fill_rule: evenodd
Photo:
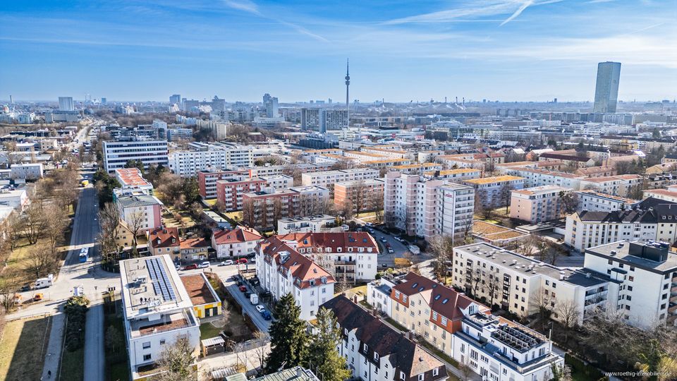
<path fill-rule="evenodd" d="M 338 211 L 364 212 L 383 205 L 383 179 L 334 183 L 334 206 Z"/>

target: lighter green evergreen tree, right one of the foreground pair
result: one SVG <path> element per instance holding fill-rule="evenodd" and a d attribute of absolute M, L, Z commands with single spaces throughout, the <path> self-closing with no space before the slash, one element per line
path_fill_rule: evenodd
<path fill-rule="evenodd" d="M 350 378 L 346 358 L 336 350 L 341 341 L 341 331 L 336 328 L 336 317 L 331 310 L 317 311 L 315 334 L 310 339 L 307 365 L 315 375 L 324 381 L 343 381 Z"/>

